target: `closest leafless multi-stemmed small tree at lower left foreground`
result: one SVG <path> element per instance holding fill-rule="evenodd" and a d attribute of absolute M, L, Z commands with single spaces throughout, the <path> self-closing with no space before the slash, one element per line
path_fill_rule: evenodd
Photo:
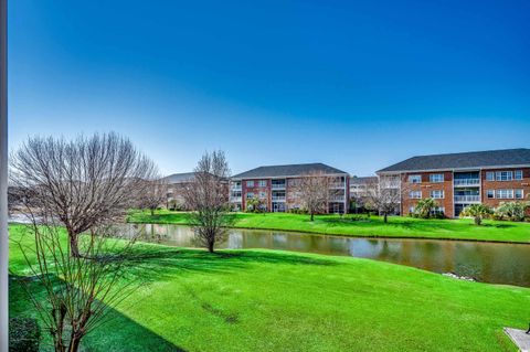
<path fill-rule="evenodd" d="M 117 227 L 97 225 L 77 238 L 83 256 L 72 256 L 64 227 L 51 217 L 33 217 L 19 242 L 28 266 L 44 289 L 44 298 L 29 285 L 20 282 L 35 306 L 56 352 L 76 352 L 83 338 L 107 321 L 107 307 L 126 299 L 141 277 L 125 277 L 134 263 L 134 234 L 118 238 Z M 32 289 L 33 288 L 33 289 Z"/>

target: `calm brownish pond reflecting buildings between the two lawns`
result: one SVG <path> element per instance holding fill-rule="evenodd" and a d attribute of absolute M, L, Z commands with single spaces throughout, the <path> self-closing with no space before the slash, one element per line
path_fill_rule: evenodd
<path fill-rule="evenodd" d="M 180 225 L 130 225 L 144 241 L 197 247 L 193 233 Z M 145 227 L 142 227 L 145 226 Z M 434 273 L 454 273 L 478 281 L 530 287 L 530 245 L 438 239 L 342 237 L 263 230 L 231 230 L 219 248 L 268 248 L 343 255 L 390 262 Z"/>

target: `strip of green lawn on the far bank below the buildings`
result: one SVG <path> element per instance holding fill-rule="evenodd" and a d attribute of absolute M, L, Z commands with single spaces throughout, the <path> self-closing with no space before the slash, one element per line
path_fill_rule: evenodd
<path fill-rule="evenodd" d="M 234 227 L 285 230 L 346 236 L 370 237 L 415 237 L 443 239 L 476 239 L 497 242 L 530 243 L 530 223 L 485 221 L 476 226 L 470 218 L 463 220 L 421 220 L 392 216 L 389 223 L 382 217 L 347 215 L 319 215 L 314 222 L 308 215 L 287 213 L 237 213 Z M 357 220 L 352 220 L 357 218 Z M 132 212 L 128 218 L 134 223 L 187 224 L 186 213 L 157 211 Z"/>

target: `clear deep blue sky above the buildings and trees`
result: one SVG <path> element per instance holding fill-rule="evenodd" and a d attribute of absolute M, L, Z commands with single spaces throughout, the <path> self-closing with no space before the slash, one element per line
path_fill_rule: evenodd
<path fill-rule="evenodd" d="M 165 173 L 530 147 L 530 1 L 11 0 L 10 147 L 115 130 Z"/>

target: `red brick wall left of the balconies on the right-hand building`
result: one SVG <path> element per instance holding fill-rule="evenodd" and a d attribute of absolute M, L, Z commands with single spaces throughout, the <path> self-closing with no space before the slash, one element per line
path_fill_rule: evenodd
<path fill-rule="evenodd" d="M 444 182 L 431 182 L 430 175 L 433 173 L 443 173 Z M 422 177 L 422 183 L 409 183 L 409 175 L 420 174 Z M 411 206 L 416 206 L 416 199 L 410 199 L 411 191 L 421 191 L 422 199 L 431 198 L 431 191 L 444 191 L 444 199 L 437 199 L 436 202 L 439 206 L 445 207 L 445 215 L 447 217 L 454 216 L 453 205 L 453 172 L 452 171 L 438 171 L 438 172 L 411 172 L 405 173 L 402 178 L 402 214 L 409 215 Z"/>

